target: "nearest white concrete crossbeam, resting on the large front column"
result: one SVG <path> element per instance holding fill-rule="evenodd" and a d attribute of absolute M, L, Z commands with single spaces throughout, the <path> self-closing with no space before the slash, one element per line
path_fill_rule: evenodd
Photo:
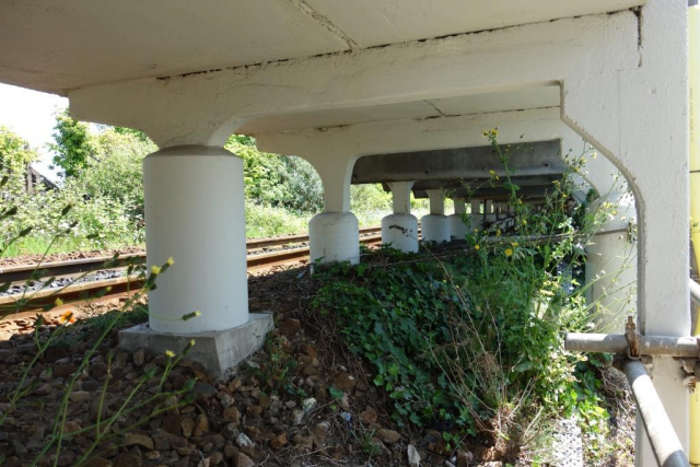
<path fill-rule="evenodd" d="M 557 84 L 640 62 L 632 11 L 348 54 L 71 90 L 73 117 L 138 128 L 160 147 L 223 145 L 257 118 Z M 410 117 L 407 116 L 407 117 Z"/>

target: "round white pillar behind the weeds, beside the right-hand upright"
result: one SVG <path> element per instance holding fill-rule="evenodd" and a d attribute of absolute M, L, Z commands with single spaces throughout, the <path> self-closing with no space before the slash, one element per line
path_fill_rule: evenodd
<path fill-rule="evenodd" d="M 626 231 L 610 231 L 627 229 L 637 213 L 634 201 L 628 196 L 612 202 L 618 203 L 617 214 L 586 247 L 585 269 L 596 328 L 619 332 L 626 317 L 637 308 L 637 242 Z"/>

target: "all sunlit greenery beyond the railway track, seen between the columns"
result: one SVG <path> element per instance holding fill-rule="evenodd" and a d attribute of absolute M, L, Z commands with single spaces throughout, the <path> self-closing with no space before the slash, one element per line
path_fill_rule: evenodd
<path fill-rule="evenodd" d="M 74 232 L 51 245 L 52 252 L 139 245 L 144 240 L 143 157 L 158 150 L 141 131 L 73 120 L 68 110 L 56 116 L 54 164 L 60 170 L 60 190 L 27 192 L 26 164 L 37 154 L 10 130 L 0 129 L 0 171 L 10 178 L 2 196 L 18 206 L 14 225 L 30 225 L 32 232 L 7 250 L 7 255 L 43 252 L 47 232 L 60 207 L 72 205 L 68 224 Z M 232 136 L 225 145 L 244 160 L 246 234 L 248 237 L 301 233 L 308 220 L 323 210 L 323 184 L 314 167 L 294 156 L 262 153 L 255 140 Z M 413 202 L 424 208 L 424 200 Z M 353 186 L 351 207 L 362 226 L 376 225 L 390 212 L 392 197 L 380 185 Z M 7 223 L 1 227 L 10 229 Z M 95 233 L 86 241 L 85 233 Z M 1 240 L 0 240 L 1 241 Z"/>

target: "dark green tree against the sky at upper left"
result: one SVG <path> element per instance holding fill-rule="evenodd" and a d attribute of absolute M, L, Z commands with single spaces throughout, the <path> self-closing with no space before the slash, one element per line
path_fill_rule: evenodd
<path fill-rule="evenodd" d="M 88 124 L 72 119 L 66 108 L 56 115 L 51 136 L 56 141 L 49 144 L 56 152 L 52 162 L 62 170 L 63 176 L 73 177 L 88 166 L 88 160 L 95 153 Z"/>

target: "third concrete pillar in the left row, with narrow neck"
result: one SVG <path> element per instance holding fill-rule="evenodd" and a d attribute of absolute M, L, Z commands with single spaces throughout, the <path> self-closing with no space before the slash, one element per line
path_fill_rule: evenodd
<path fill-rule="evenodd" d="M 394 213 L 382 219 L 382 243 L 407 253 L 418 252 L 418 219 L 410 213 L 413 182 L 389 183 Z"/>

